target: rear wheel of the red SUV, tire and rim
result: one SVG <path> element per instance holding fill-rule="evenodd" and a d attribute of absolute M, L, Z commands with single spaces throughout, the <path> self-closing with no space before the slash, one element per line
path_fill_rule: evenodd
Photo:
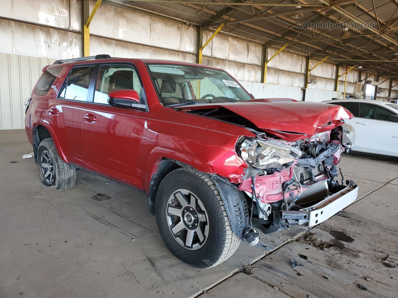
<path fill-rule="evenodd" d="M 48 158 L 50 162 L 45 163 Z M 46 166 L 43 166 L 43 164 Z M 48 172 L 44 172 L 48 164 L 50 164 L 52 168 L 52 172 L 51 168 L 48 169 L 51 172 L 49 174 Z M 37 165 L 39 166 L 41 182 L 45 186 L 57 189 L 75 186 L 76 169 L 72 168 L 70 164 L 62 161 L 52 139 L 44 139 L 40 142 L 39 148 L 37 149 Z M 47 174 L 46 177 L 45 174 Z M 49 177 L 51 177 L 51 179 L 49 179 Z"/>

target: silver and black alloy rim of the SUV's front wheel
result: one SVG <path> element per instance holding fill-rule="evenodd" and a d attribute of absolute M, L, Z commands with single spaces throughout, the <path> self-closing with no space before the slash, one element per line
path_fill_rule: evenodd
<path fill-rule="evenodd" d="M 179 189 L 166 205 L 167 223 L 174 238 L 188 250 L 201 248 L 209 236 L 209 218 L 201 200 L 189 190 Z"/>

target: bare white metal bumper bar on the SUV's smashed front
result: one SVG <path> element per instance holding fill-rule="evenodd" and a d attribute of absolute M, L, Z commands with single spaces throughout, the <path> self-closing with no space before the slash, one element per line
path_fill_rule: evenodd
<path fill-rule="evenodd" d="M 326 197 L 315 205 L 300 209 L 300 211 L 282 211 L 282 219 L 297 219 L 298 224 L 302 226 L 315 226 L 343 210 L 357 197 L 358 186 L 347 186 L 336 194 Z"/>

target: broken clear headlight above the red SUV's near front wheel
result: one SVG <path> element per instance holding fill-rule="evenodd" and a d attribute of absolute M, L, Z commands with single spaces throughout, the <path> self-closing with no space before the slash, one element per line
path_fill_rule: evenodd
<path fill-rule="evenodd" d="M 284 143 L 252 138 L 244 139 L 239 150 L 240 156 L 248 166 L 259 169 L 289 168 L 302 155 L 299 149 Z"/>

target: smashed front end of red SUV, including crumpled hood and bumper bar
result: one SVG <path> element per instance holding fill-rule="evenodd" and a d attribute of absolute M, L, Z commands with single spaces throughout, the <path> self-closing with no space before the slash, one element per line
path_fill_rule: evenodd
<path fill-rule="evenodd" d="M 182 109 L 244 123 L 254 135 L 238 137 L 232 155 L 241 163 L 227 178 L 252 199 L 252 222 L 258 230 L 273 233 L 292 224 L 314 226 L 357 198 L 357 185 L 344 181 L 337 166 L 341 154 L 355 142 L 352 126 L 343 121 L 353 116 L 343 107 L 253 99 Z M 234 160 L 232 155 L 229 160 Z"/>

